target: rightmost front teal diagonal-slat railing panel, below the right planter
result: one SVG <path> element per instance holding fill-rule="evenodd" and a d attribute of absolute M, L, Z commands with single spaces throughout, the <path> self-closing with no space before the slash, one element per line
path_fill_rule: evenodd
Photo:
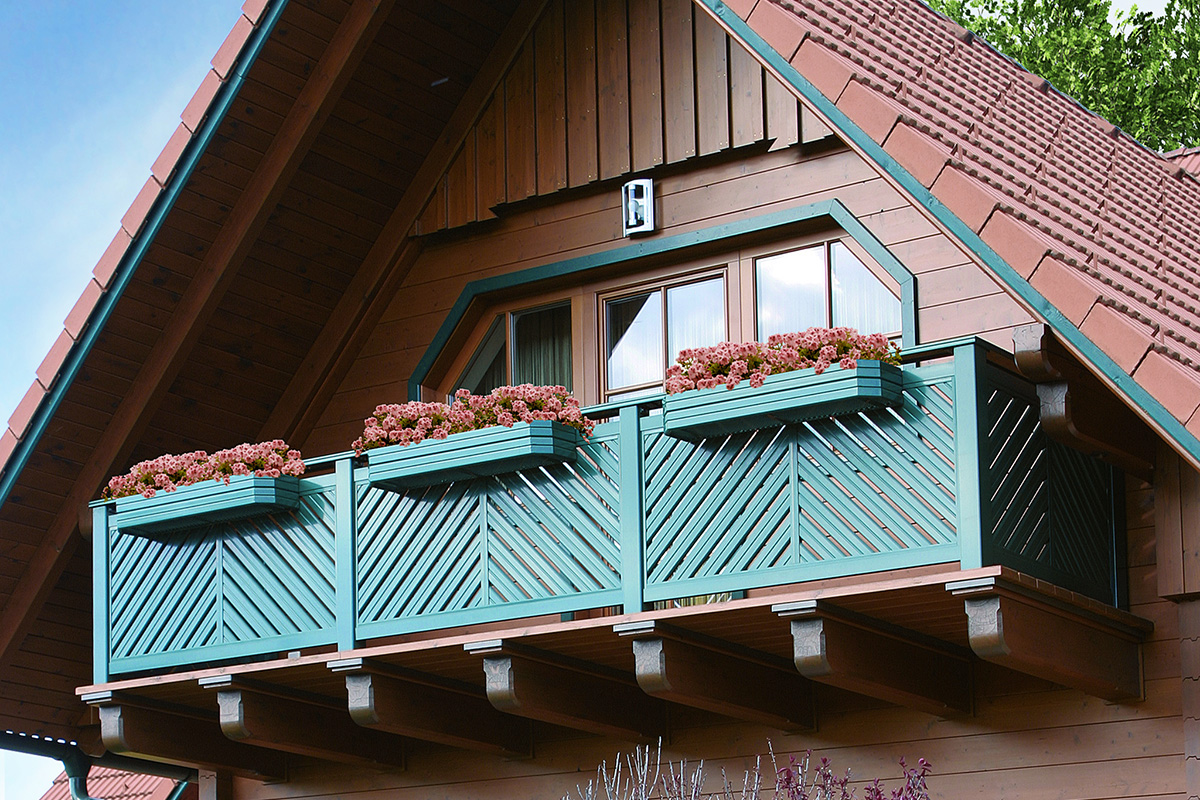
<path fill-rule="evenodd" d="M 900 408 L 700 444 L 648 426 L 648 583 L 955 542 L 952 380 L 941 367 L 908 369 Z"/>

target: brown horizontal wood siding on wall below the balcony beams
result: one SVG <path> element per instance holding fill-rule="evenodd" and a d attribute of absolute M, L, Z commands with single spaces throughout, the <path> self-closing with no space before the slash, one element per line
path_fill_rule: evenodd
<path fill-rule="evenodd" d="M 865 778 L 880 776 L 895 787 L 898 759 L 929 759 L 934 798 L 1052 800 L 1058 798 L 1184 796 L 1183 720 L 1176 607 L 1157 596 L 1154 581 L 1153 494 L 1148 486 L 1127 487 L 1130 610 L 1154 621 L 1145 645 L 1146 699 L 1114 704 L 976 662 L 976 714 L 942 720 L 883 705 L 833 690 L 818 694 L 816 733 L 784 734 L 721 721 L 676 708 L 664 759 L 704 760 L 719 789 L 724 769 L 737 784 L 764 757 L 768 741 L 776 758 L 803 757 L 811 748 L 836 770 L 850 768 L 858 794 Z M 630 658 L 631 668 L 632 658 Z M 575 796 L 576 784 L 594 777 L 601 760 L 612 763 L 629 745 L 599 738 L 556 738 L 538 742 L 529 760 L 504 760 L 432 746 L 414 746 L 406 772 L 300 766 L 289 782 L 239 781 L 236 800 L 323 800 L 353 795 L 362 800 L 430 798 L 448 800 Z"/>

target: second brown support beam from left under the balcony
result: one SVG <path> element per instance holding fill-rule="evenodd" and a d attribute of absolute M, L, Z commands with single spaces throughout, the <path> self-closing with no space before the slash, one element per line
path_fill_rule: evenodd
<path fill-rule="evenodd" d="M 221 732 L 233 741 L 326 762 L 404 769 L 403 740 L 354 724 L 340 703 L 228 675 L 200 685 L 217 690 Z"/>

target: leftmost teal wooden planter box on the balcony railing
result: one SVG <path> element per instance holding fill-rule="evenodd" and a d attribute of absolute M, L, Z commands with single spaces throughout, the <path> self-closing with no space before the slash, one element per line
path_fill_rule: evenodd
<path fill-rule="evenodd" d="M 121 533 L 166 534 L 295 509 L 300 504 L 300 479 L 234 475 L 228 485 L 204 481 L 174 492 L 157 492 L 152 498 L 133 495 L 110 503 Z"/>

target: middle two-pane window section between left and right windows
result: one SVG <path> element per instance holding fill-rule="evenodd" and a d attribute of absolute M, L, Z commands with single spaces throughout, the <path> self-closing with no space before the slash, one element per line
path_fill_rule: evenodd
<path fill-rule="evenodd" d="M 604 300 L 605 397 L 662 390 L 667 366 L 686 348 L 728 338 L 725 278 L 658 287 Z"/>

